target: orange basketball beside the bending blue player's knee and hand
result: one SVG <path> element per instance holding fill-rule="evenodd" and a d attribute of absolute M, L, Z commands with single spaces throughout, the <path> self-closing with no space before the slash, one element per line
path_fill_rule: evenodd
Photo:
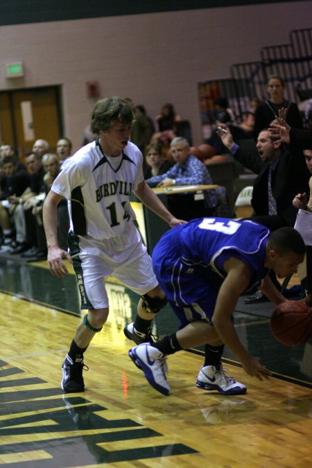
<path fill-rule="evenodd" d="M 311 308 L 301 301 L 284 301 L 272 313 L 272 334 L 283 345 L 302 345 L 312 335 Z"/>

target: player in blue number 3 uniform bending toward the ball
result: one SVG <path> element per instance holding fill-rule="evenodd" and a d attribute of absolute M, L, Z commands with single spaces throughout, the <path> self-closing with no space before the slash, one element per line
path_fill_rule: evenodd
<path fill-rule="evenodd" d="M 243 291 L 259 286 L 272 302 L 285 297 L 270 277 L 291 276 L 304 259 L 304 241 L 293 227 L 275 232 L 250 220 L 200 218 L 168 231 L 153 250 L 153 266 L 168 302 L 180 320 L 180 329 L 155 343 L 130 349 L 132 361 L 144 371 L 156 390 L 169 395 L 166 356 L 181 349 L 205 345 L 205 364 L 196 385 L 223 395 L 247 391 L 225 374 L 221 356 L 226 345 L 245 372 L 259 380 L 271 372 L 241 344 L 232 312 Z"/>

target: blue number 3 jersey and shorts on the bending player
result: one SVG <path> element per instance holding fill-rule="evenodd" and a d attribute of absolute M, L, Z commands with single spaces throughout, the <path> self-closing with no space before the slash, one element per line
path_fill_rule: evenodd
<path fill-rule="evenodd" d="M 166 232 L 153 250 L 153 268 L 175 312 L 187 320 L 211 318 L 227 272 L 236 257 L 250 268 L 246 291 L 268 274 L 264 266 L 270 231 L 258 223 L 228 218 L 200 218 Z"/>

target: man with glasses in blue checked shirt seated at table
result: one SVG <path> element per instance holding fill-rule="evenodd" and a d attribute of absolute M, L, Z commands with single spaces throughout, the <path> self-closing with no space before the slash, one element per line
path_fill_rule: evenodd
<path fill-rule="evenodd" d="M 176 137 L 171 141 L 171 154 L 175 160 L 172 166 L 166 173 L 155 175 L 146 180 L 150 187 L 171 187 L 173 185 L 185 184 L 213 184 L 209 171 L 205 164 L 203 164 L 196 156 L 191 155 L 189 150 L 189 141 L 182 137 Z M 204 191 L 205 212 L 198 214 L 195 209 L 187 214 L 187 204 L 183 202 L 183 196 L 170 196 L 168 202 L 172 203 L 169 209 L 175 216 L 179 211 L 181 219 L 188 220 L 187 218 L 196 218 L 198 216 L 211 216 L 214 215 L 216 210 L 217 198 L 215 190 Z M 185 196 L 184 196 L 185 197 Z M 178 198 L 178 200 L 177 200 Z M 185 199 L 184 199 L 185 200 Z M 173 206 L 175 202 L 175 206 Z M 183 216 L 184 215 L 184 216 Z"/>

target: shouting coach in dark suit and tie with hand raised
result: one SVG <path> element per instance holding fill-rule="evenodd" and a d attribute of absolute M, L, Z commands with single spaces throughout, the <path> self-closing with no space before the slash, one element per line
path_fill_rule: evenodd
<path fill-rule="evenodd" d="M 221 125 L 225 132 L 218 131 L 223 144 L 229 148 L 234 159 L 257 174 L 252 191 L 252 220 L 263 224 L 271 231 L 284 226 L 293 226 L 297 209 L 293 198 L 297 193 L 309 193 L 309 173 L 301 150 L 293 152 L 281 141 L 272 141 L 269 130 L 262 130 L 257 139 L 259 156 L 246 152 L 233 141 L 229 128 Z M 270 276 L 280 288 L 275 275 Z M 262 293 L 247 297 L 245 302 L 266 300 Z"/>

